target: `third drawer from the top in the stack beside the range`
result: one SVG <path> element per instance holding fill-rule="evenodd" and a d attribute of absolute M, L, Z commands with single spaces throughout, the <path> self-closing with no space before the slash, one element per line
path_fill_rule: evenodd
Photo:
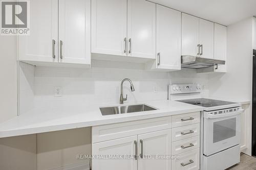
<path fill-rule="evenodd" d="M 172 155 L 181 154 L 200 147 L 200 136 L 172 142 Z"/>

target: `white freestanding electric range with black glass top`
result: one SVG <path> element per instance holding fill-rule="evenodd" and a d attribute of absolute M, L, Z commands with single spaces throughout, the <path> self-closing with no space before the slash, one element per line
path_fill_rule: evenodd
<path fill-rule="evenodd" d="M 168 99 L 203 107 L 200 169 L 223 170 L 240 162 L 240 103 L 201 98 L 198 84 L 168 86 Z M 218 162 L 218 163 L 216 163 Z"/>

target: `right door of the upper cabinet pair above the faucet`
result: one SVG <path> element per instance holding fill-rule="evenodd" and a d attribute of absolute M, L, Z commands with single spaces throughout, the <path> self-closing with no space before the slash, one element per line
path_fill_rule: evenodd
<path fill-rule="evenodd" d="M 156 4 L 128 0 L 128 56 L 156 58 Z"/>

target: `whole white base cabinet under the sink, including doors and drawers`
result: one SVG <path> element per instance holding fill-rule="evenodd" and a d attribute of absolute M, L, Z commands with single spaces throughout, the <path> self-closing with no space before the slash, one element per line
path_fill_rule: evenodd
<path fill-rule="evenodd" d="M 196 113 L 200 115 L 175 115 L 175 121 L 167 116 L 92 127 L 93 170 L 198 170 L 200 119 Z M 172 123 L 191 116 L 197 124 L 172 129 Z"/>

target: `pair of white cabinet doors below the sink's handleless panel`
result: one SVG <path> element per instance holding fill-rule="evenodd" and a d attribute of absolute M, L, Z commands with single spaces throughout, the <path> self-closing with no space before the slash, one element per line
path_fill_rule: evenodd
<path fill-rule="evenodd" d="M 93 143 L 94 170 L 170 170 L 171 160 L 162 159 L 171 153 L 170 130 Z M 102 159 L 97 156 L 122 156 L 120 159 Z M 127 157 L 125 157 L 127 156 Z"/>

